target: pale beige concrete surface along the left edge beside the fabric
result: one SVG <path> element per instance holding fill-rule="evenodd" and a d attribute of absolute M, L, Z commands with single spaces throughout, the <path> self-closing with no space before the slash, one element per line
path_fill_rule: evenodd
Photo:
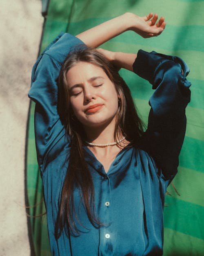
<path fill-rule="evenodd" d="M 29 256 L 24 152 L 27 93 L 42 32 L 41 1 L 3 0 L 0 17 L 0 256 Z"/>

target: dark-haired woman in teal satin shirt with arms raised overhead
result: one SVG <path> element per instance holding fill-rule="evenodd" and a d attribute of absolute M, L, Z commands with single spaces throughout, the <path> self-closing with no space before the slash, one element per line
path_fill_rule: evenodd
<path fill-rule="evenodd" d="M 96 48 L 126 30 L 157 36 L 166 24 L 163 17 L 156 22 L 156 14 L 126 13 L 76 37 L 61 34 L 33 67 L 29 97 L 36 102 L 35 139 L 55 256 L 163 253 L 164 196 L 184 139 L 188 67 L 156 52 L 97 52 L 82 45 Z M 145 132 L 117 68 L 134 71 L 155 89 Z"/>

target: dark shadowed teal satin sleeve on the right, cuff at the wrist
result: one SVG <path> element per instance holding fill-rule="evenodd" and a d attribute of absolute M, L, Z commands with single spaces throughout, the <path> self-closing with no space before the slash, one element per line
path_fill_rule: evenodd
<path fill-rule="evenodd" d="M 178 57 L 140 50 L 133 70 L 155 89 L 141 147 L 153 157 L 162 177 L 171 180 L 177 172 L 186 130 L 185 108 L 191 96 L 188 66 Z"/>

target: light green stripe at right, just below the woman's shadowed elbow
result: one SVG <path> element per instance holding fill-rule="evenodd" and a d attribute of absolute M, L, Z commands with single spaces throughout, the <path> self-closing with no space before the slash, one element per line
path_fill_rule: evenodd
<path fill-rule="evenodd" d="M 173 179 L 173 184 L 175 185 L 180 196 L 177 195 L 171 185 L 167 190 L 169 193 L 171 193 L 172 197 L 190 202 L 192 204 L 204 206 L 203 197 L 198 197 L 198 195 L 204 195 L 203 181 L 204 173 L 196 172 L 195 170 L 179 166 L 178 173 Z"/>

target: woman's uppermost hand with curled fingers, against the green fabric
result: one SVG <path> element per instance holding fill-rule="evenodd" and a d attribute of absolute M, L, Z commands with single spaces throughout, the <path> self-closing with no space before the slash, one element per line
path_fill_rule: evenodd
<path fill-rule="evenodd" d="M 133 30 L 144 38 L 158 36 L 166 27 L 164 17 L 161 17 L 158 20 L 158 15 L 153 15 L 152 12 L 144 17 L 140 17 L 132 13 L 126 13 L 124 15 L 126 16 L 129 24 L 127 30 Z"/>

